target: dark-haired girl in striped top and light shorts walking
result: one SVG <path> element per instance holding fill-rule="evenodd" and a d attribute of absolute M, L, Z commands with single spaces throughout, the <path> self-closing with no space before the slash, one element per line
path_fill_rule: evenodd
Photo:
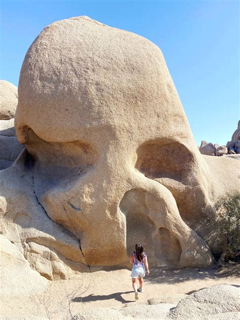
<path fill-rule="evenodd" d="M 148 263 L 147 263 L 147 255 L 143 252 L 143 246 L 140 244 L 136 244 L 135 246 L 136 252 L 134 251 L 130 258 L 130 263 L 133 264 L 132 268 L 132 282 L 133 282 L 133 290 L 135 293 L 135 300 L 138 300 L 138 291 L 143 292 L 143 277 L 145 276 L 145 267 L 146 274 L 149 274 Z M 137 289 L 137 282 L 139 280 L 139 289 Z"/>

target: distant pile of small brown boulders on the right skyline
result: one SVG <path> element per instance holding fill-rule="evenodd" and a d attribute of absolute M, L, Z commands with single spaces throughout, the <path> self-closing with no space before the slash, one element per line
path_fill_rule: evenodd
<path fill-rule="evenodd" d="M 226 145 L 219 146 L 202 140 L 199 151 L 205 155 L 224 155 L 224 154 L 237 154 L 240 153 L 240 121 L 238 121 L 237 129 L 232 135 L 231 141 Z"/>

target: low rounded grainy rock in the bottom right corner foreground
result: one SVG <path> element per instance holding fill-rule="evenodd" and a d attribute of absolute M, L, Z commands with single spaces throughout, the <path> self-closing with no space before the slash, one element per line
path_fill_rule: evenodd
<path fill-rule="evenodd" d="M 192 293 L 182 299 L 169 313 L 171 319 L 231 319 L 240 311 L 240 288 L 230 285 L 216 285 Z M 239 316 L 239 313 L 238 313 Z M 234 317 L 233 317 L 234 318 Z M 238 317 L 239 318 L 239 317 Z"/>

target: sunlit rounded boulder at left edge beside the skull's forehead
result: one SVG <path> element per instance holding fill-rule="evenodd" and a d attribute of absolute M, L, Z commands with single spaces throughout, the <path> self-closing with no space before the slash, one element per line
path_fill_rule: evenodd
<path fill-rule="evenodd" d="M 18 88 L 8 81 L 0 80 L 0 120 L 14 118 L 18 104 Z"/>

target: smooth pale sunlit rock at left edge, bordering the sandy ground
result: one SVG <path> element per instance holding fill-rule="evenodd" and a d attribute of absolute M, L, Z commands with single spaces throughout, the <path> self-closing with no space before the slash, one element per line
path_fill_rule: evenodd
<path fill-rule="evenodd" d="M 0 234 L 0 296 L 13 298 L 41 293 L 46 289 L 46 278 L 30 268 L 20 250 Z"/>

